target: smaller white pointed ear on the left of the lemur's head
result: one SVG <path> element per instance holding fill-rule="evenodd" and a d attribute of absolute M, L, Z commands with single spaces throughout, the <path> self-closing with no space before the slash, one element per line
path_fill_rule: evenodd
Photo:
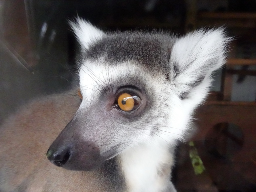
<path fill-rule="evenodd" d="M 77 18 L 75 22 L 69 22 L 82 48 L 88 49 L 90 44 L 101 39 L 105 34 L 89 22 Z"/>

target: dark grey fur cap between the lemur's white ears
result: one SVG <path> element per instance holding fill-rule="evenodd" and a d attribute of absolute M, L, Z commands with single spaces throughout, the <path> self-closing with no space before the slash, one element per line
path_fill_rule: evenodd
<path fill-rule="evenodd" d="M 106 35 L 92 44 L 87 59 L 104 56 L 109 63 L 135 60 L 149 70 L 168 71 L 174 38 L 167 34 L 123 32 Z"/>

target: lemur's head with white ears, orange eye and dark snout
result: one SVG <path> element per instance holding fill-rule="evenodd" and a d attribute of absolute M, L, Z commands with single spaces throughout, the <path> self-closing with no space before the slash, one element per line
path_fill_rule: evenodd
<path fill-rule="evenodd" d="M 82 102 L 48 150 L 54 164 L 92 170 L 129 147 L 174 144 L 225 62 L 223 29 L 184 37 L 104 33 L 77 19 Z"/>

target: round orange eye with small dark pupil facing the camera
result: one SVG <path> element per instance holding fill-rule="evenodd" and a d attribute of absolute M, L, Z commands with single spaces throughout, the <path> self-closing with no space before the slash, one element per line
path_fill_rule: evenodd
<path fill-rule="evenodd" d="M 135 110 L 141 103 L 141 100 L 136 95 L 132 96 L 130 93 L 122 93 L 119 95 L 117 103 L 121 110 L 129 112 Z"/>

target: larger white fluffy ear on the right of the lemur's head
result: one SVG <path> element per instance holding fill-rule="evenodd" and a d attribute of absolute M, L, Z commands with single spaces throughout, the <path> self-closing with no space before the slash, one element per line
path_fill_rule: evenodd
<path fill-rule="evenodd" d="M 225 63 L 229 40 L 223 28 L 219 28 L 201 29 L 175 42 L 170 65 L 180 98 L 187 97 L 202 82 L 205 82 L 206 95 L 211 73 Z"/>

